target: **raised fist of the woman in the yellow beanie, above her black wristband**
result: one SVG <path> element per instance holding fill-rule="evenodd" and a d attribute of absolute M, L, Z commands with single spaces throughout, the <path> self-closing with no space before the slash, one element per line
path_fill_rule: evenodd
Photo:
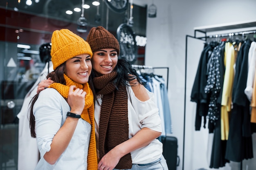
<path fill-rule="evenodd" d="M 70 90 L 67 96 L 67 103 L 70 105 L 70 112 L 81 115 L 85 106 L 86 92 L 83 89 L 76 88 L 76 86 L 70 86 Z"/>

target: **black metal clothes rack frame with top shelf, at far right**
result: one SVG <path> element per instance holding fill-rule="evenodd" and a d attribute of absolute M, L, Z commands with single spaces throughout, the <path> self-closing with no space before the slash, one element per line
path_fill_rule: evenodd
<path fill-rule="evenodd" d="M 234 31 L 235 29 L 242 29 L 242 28 L 251 28 L 256 27 L 256 21 L 249 21 L 249 22 L 237 22 L 237 23 L 230 23 L 230 24 L 218 24 L 213 26 L 203 26 L 203 27 L 195 27 L 194 28 L 194 36 L 186 35 L 186 55 L 185 55 L 185 91 L 184 91 L 184 129 L 183 129 L 183 154 L 182 154 L 182 170 L 184 170 L 184 148 L 185 148 L 185 122 L 186 122 L 186 73 L 187 73 L 187 46 L 188 46 L 188 38 L 200 39 L 203 41 L 207 41 L 209 38 L 214 37 L 230 37 L 232 35 L 246 35 L 246 34 L 255 34 L 256 28 L 252 31 Z M 227 31 L 233 30 L 231 33 L 225 34 L 214 34 L 214 35 L 207 35 L 207 33 L 213 33 L 217 31 Z M 203 37 L 197 36 L 197 33 L 204 34 Z M 243 169 L 243 161 L 240 164 L 240 170 Z"/>

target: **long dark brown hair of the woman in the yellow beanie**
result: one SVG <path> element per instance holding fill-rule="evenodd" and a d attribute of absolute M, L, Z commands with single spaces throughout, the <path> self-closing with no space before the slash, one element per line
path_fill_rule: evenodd
<path fill-rule="evenodd" d="M 66 62 L 65 62 L 66 63 Z M 65 78 L 64 78 L 64 69 L 65 69 L 65 63 L 62 63 L 61 65 L 59 65 L 56 70 L 54 70 L 53 72 L 50 72 L 46 78 L 49 78 L 51 77 L 52 78 L 52 81 L 54 81 L 55 83 L 61 83 L 63 85 L 66 85 L 66 81 L 65 81 Z M 95 98 L 95 90 L 93 88 L 93 84 L 92 84 L 92 77 L 89 76 L 89 79 L 88 79 L 88 83 L 89 83 L 89 86 L 90 88 L 92 89 L 92 93 L 93 93 L 93 96 Z M 38 96 L 39 96 L 39 93 L 36 94 L 32 99 L 31 101 L 29 102 L 29 127 L 30 127 L 30 134 L 31 134 L 31 137 L 36 137 L 36 131 L 35 131 L 35 125 L 36 125 L 36 122 L 35 122 L 35 116 L 34 116 L 34 113 L 33 113 L 33 108 L 34 108 L 34 104 L 36 102 L 36 100 L 38 99 Z"/>

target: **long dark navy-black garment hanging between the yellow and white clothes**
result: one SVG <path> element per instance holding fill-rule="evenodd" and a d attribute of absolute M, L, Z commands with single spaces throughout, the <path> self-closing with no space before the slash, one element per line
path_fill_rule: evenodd
<path fill-rule="evenodd" d="M 240 162 L 253 158 L 252 131 L 250 123 L 249 100 L 244 93 L 248 75 L 248 53 L 251 45 L 247 40 L 240 47 L 236 59 L 236 70 L 232 92 L 233 109 L 229 123 L 229 137 L 225 158 Z"/>

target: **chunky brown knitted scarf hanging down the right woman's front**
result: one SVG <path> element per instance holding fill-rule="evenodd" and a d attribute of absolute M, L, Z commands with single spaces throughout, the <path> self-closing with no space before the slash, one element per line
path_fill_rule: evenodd
<path fill-rule="evenodd" d="M 128 96 L 126 86 L 116 89 L 112 80 L 117 72 L 111 72 L 93 79 L 97 94 L 102 94 L 99 120 L 99 157 L 100 159 L 112 148 L 129 139 Z M 121 157 L 116 169 L 131 169 L 130 153 Z"/>

